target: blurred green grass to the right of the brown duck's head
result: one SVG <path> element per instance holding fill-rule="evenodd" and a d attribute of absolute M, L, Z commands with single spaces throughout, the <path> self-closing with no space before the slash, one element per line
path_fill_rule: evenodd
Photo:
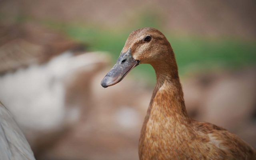
<path fill-rule="evenodd" d="M 256 64 L 256 43 L 235 39 L 174 38 L 170 40 L 181 72 L 197 68 L 238 68 Z"/>

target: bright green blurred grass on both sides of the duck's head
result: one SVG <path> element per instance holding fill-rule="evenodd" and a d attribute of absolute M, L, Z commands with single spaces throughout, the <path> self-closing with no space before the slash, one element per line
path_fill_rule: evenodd
<path fill-rule="evenodd" d="M 89 50 L 108 51 L 112 62 L 116 62 L 130 30 L 106 30 L 85 26 L 54 26 L 62 30 L 71 38 L 89 45 Z M 255 66 L 256 43 L 237 39 L 206 39 L 200 37 L 177 37 L 166 34 L 170 41 L 180 75 L 195 70 L 212 68 L 239 68 Z M 147 77 L 147 81 L 154 83 L 154 70 L 149 65 L 140 65 L 132 74 Z"/>

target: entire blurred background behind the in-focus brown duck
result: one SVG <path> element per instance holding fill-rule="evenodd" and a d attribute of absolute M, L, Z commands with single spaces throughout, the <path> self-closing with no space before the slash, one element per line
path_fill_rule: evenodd
<path fill-rule="evenodd" d="M 102 88 L 132 30 L 170 41 L 194 119 L 256 147 L 256 1 L 0 0 L 0 100 L 38 160 L 138 160 L 155 84 Z"/>

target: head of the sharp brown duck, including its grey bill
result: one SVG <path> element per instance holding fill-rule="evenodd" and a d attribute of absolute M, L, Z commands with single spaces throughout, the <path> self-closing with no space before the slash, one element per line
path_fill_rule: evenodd
<path fill-rule="evenodd" d="M 160 31 L 154 28 L 134 30 L 128 36 L 124 48 L 113 68 L 101 81 L 106 88 L 120 82 L 134 67 L 139 64 L 161 63 L 170 43 Z"/>

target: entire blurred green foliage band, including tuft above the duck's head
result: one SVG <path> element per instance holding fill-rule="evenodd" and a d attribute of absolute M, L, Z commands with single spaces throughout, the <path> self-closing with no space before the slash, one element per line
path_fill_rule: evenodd
<path fill-rule="evenodd" d="M 174 50 L 179 74 L 207 71 L 209 69 L 236 69 L 256 65 L 256 42 L 238 38 L 207 38 L 198 35 L 182 36 L 163 30 L 163 21 L 158 13 L 139 13 L 138 20 L 128 28 L 107 28 L 93 24 L 67 23 L 57 21 L 41 21 L 39 23 L 62 31 L 70 38 L 88 44 L 89 51 L 107 51 L 116 62 L 124 43 L 132 30 L 142 27 L 154 27 L 162 31 Z M 33 18 L 19 16 L 16 22 L 36 21 Z M 137 78 L 155 82 L 154 70 L 150 65 L 140 65 L 132 70 Z M 146 78 L 144 78 L 146 77 Z"/>

